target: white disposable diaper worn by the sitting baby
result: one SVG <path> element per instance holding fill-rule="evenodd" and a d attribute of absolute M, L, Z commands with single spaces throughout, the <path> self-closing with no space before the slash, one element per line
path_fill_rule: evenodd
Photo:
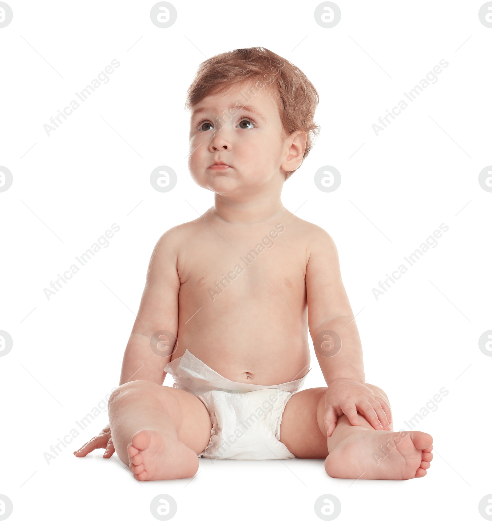
<path fill-rule="evenodd" d="M 197 396 L 210 414 L 211 437 L 199 458 L 295 458 L 280 441 L 280 423 L 285 404 L 299 392 L 307 372 L 280 385 L 240 383 L 224 378 L 188 349 L 164 371 L 173 376 L 173 387 Z"/>

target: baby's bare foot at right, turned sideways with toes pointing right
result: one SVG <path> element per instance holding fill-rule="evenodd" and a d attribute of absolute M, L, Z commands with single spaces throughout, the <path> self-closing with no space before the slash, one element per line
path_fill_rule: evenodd
<path fill-rule="evenodd" d="M 325 470 L 331 477 L 364 480 L 409 480 L 427 474 L 432 437 L 419 430 L 357 430 L 329 453 Z"/>

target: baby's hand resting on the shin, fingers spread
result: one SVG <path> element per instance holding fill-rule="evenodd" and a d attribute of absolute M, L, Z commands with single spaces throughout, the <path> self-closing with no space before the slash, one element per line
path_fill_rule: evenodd
<path fill-rule="evenodd" d="M 376 396 L 369 387 L 358 381 L 348 378 L 331 381 L 325 395 L 325 408 L 325 428 L 328 436 L 333 434 L 338 416 L 345 414 L 352 425 L 359 425 L 357 411 L 376 430 L 391 430 L 390 406 L 382 397 Z M 381 424 L 384 424 L 384 427 Z"/>

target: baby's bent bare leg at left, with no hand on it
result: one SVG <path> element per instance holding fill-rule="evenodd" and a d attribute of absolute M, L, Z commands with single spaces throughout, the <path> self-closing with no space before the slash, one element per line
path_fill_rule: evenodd
<path fill-rule="evenodd" d="M 120 385 L 108 402 L 118 457 L 139 481 L 191 477 L 210 440 L 207 408 L 192 394 L 150 381 Z"/>

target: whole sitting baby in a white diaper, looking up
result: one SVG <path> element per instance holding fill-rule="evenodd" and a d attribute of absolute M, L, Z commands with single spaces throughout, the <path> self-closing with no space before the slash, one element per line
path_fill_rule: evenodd
<path fill-rule="evenodd" d="M 365 382 L 332 238 L 280 199 L 319 131 L 317 103 L 268 49 L 201 64 L 189 169 L 215 203 L 159 238 L 109 425 L 75 456 L 116 450 L 139 481 L 191 477 L 199 457 L 323 458 L 328 475 L 353 479 L 427 474 L 431 436 L 393 432 L 385 392 Z M 326 386 L 300 390 L 308 329 Z"/>

